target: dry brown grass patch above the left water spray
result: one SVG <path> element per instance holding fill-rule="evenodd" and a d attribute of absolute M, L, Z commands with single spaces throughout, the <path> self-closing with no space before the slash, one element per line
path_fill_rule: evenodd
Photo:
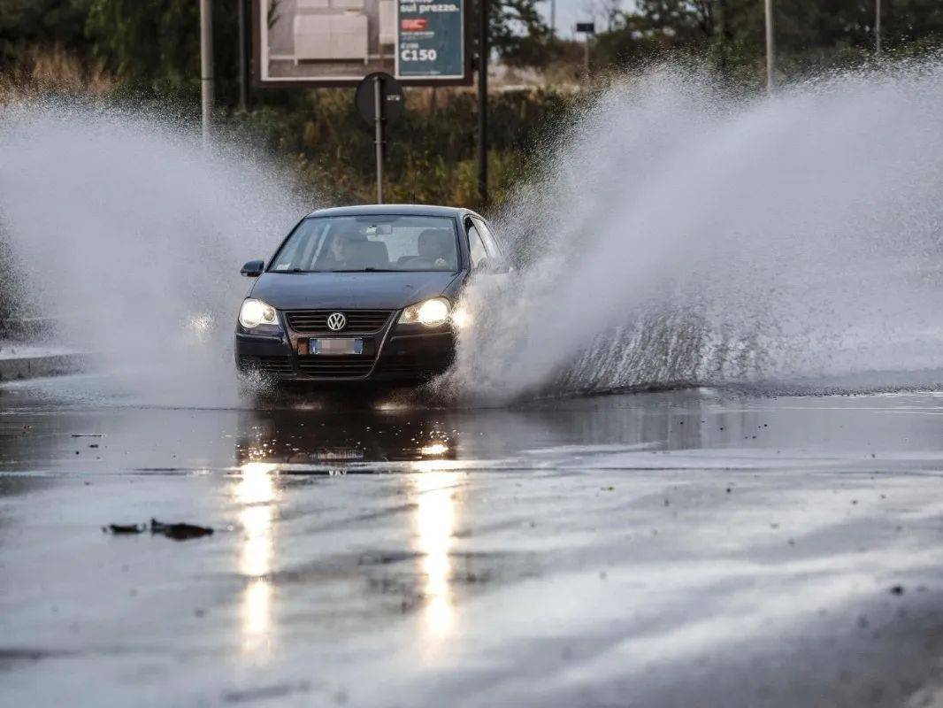
<path fill-rule="evenodd" d="M 86 65 L 61 47 L 33 47 L 0 73 L 0 103 L 29 100 L 49 94 L 100 95 L 117 81 L 101 62 Z"/>

